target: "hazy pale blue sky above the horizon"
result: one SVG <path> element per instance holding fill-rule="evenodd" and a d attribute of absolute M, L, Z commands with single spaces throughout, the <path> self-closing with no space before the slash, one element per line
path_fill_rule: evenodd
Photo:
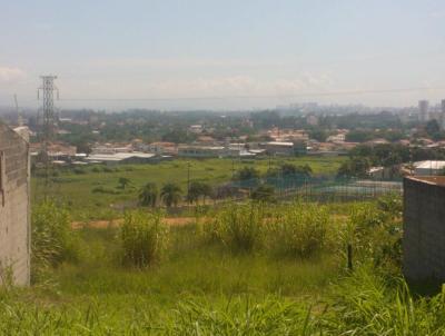
<path fill-rule="evenodd" d="M 445 1 L 0 0 L 0 105 L 17 92 L 37 107 L 43 73 L 65 99 L 176 99 L 61 107 L 433 103 L 445 98 Z M 317 97 L 409 88 L 429 89 Z"/>

